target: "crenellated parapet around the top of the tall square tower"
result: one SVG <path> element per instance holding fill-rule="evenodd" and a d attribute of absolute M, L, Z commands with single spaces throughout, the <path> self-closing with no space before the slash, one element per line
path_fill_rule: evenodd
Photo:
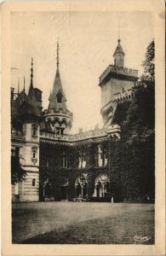
<path fill-rule="evenodd" d="M 119 73 L 130 77 L 138 78 L 138 70 L 127 68 L 127 67 L 116 67 L 113 65 L 109 65 L 106 70 L 100 75 L 100 83 L 103 79 L 106 78 L 108 73 Z"/>

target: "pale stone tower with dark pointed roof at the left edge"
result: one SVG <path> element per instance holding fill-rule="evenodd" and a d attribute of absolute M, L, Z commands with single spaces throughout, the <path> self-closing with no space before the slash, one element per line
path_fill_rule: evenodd
<path fill-rule="evenodd" d="M 25 85 L 25 84 L 24 84 Z M 31 84 L 28 95 L 25 88 L 18 93 L 12 106 L 12 147 L 26 172 L 25 180 L 13 185 L 13 200 L 39 200 L 39 122 L 40 113 L 33 89 L 33 60 L 31 58 Z M 19 136 L 18 136 L 19 134 Z"/>

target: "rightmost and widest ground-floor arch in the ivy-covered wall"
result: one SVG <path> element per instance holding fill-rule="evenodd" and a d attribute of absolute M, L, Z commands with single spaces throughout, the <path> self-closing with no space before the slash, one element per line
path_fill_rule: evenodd
<path fill-rule="evenodd" d="M 110 180 L 106 174 L 96 177 L 94 183 L 94 196 L 108 197 L 110 195 Z"/>

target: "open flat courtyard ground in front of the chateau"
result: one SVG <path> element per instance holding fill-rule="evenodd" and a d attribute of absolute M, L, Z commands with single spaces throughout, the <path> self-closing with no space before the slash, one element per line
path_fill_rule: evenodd
<path fill-rule="evenodd" d="M 154 244 L 154 205 L 14 203 L 12 239 L 26 244 Z"/>

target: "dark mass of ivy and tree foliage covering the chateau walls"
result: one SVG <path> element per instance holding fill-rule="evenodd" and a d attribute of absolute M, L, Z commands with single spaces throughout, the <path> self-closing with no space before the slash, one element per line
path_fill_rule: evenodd
<path fill-rule="evenodd" d="M 59 146 L 40 148 L 41 155 L 49 157 L 49 167 L 40 168 L 40 183 L 47 177 L 53 184 L 53 194 L 60 198 L 60 179 L 68 179 L 68 195 L 74 197 L 75 180 L 82 173 L 88 174 L 88 195 L 94 193 L 94 181 L 101 173 L 110 179 L 110 190 L 116 201 L 144 201 L 154 199 L 155 183 L 155 82 L 154 82 L 154 42 L 149 44 L 146 60 L 143 62 L 145 73 L 132 90 L 131 101 L 120 102 L 112 123 L 121 125 L 121 140 L 108 140 L 108 166 L 97 166 L 98 143 L 83 144 L 66 148 L 69 163 L 67 169 L 61 168 Z M 101 143 L 103 146 L 104 143 Z M 65 146 L 64 146 L 65 147 Z M 84 148 L 83 148 L 84 147 Z M 78 169 L 79 151 L 88 152 L 89 166 Z M 56 155 L 56 158 L 54 158 Z M 40 163 L 42 159 L 40 160 Z"/>

